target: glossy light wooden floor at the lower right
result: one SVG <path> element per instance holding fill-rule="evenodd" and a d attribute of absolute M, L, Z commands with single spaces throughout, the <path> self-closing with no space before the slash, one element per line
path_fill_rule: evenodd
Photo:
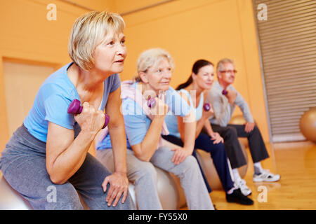
<path fill-rule="evenodd" d="M 254 205 L 228 203 L 225 193 L 210 193 L 218 210 L 301 210 L 316 209 L 316 145 L 310 142 L 267 145 L 270 158 L 262 162 L 264 169 L 281 175 L 276 183 L 254 183 L 254 166 L 250 161 L 245 181 L 251 188 Z M 249 149 L 247 149 L 249 153 Z M 251 158 L 249 153 L 249 158 Z M 266 197 L 264 195 L 266 193 Z M 266 200 L 266 202 L 265 202 Z"/>

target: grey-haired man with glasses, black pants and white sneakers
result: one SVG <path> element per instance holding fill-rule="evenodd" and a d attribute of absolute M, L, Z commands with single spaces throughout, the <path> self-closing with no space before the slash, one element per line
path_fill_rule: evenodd
<path fill-rule="evenodd" d="M 261 132 L 254 124 L 254 118 L 251 115 L 248 104 L 232 86 L 237 73 L 235 63 L 232 59 L 221 59 L 217 64 L 216 70 L 218 80 L 213 83 L 206 98 L 207 102 L 211 102 L 214 111 L 209 119 L 213 131 L 218 132 L 224 139 L 225 150 L 230 160 L 235 185 L 247 196 L 251 194 L 251 190 L 246 186 L 246 181 L 239 176 L 237 169 L 246 165 L 246 158 L 244 153 L 242 153 L 238 137 L 246 137 L 249 141 L 249 149 L 254 162 L 254 182 L 279 181 L 280 176 L 271 174 L 267 169 L 261 167 L 261 160 L 269 158 L 269 155 L 261 137 Z M 234 113 L 235 105 L 239 106 L 244 115 L 246 120 L 244 125 L 228 125 Z"/>

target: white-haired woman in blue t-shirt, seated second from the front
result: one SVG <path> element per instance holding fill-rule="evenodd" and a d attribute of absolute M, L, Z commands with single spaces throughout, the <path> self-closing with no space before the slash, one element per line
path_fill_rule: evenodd
<path fill-rule="evenodd" d="M 138 77 L 121 84 L 122 113 L 128 139 L 127 175 L 135 185 L 138 209 L 162 209 L 157 193 L 159 167 L 180 178 L 188 209 L 213 209 L 213 204 L 197 161 L 192 157 L 195 143 L 195 119 L 190 106 L 170 86 L 173 59 L 169 52 L 153 48 L 143 52 L 137 62 Z M 155 105 L 147 105 L 148 98 Z M 166 146 L 161 134 L 168 134 L 166 113 L 178 114 L 184 126 L 184 146 Z M 104 137 L 104 138 L 103 138 Z M 112 137 L 103 134 L 97 144 L 96 157 L 109 169 L 113 165 Z"/>

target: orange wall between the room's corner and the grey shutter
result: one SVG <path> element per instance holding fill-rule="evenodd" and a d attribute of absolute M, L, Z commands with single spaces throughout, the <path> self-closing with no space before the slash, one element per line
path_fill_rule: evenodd
<path fill-rule="evenodd" d="M 124 16 L 128 57 L 122 79 L 136 73 L 136 60 L 147 48 L 165 48 L 176 62 L 171 86 L 187 80 L 197 59 L 235 60 L 235 87 L 269 141 L 256 29 L 251 0 L 180 0 Z M 237 110 L 235 114 L 240 114 Z"/>

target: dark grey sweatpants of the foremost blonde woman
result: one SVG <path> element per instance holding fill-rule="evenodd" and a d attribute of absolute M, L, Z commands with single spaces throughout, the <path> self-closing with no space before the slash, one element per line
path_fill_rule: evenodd
<path fill-rule="evenodd" d="M 78 193 L 89 209 L 135 209 L 130 195 L 124 204 L 120 200 L 116 207 L 107 206 L 108 190 L 104 193 L 101 184 L 111 173 L 90 154 L 65 184 L 51 182 L 46 170 L 46 143 L 29 134 L 24 125 L 6 144 L 0 169 L 6 181 L 34 209 L 83 209 Z"/>

